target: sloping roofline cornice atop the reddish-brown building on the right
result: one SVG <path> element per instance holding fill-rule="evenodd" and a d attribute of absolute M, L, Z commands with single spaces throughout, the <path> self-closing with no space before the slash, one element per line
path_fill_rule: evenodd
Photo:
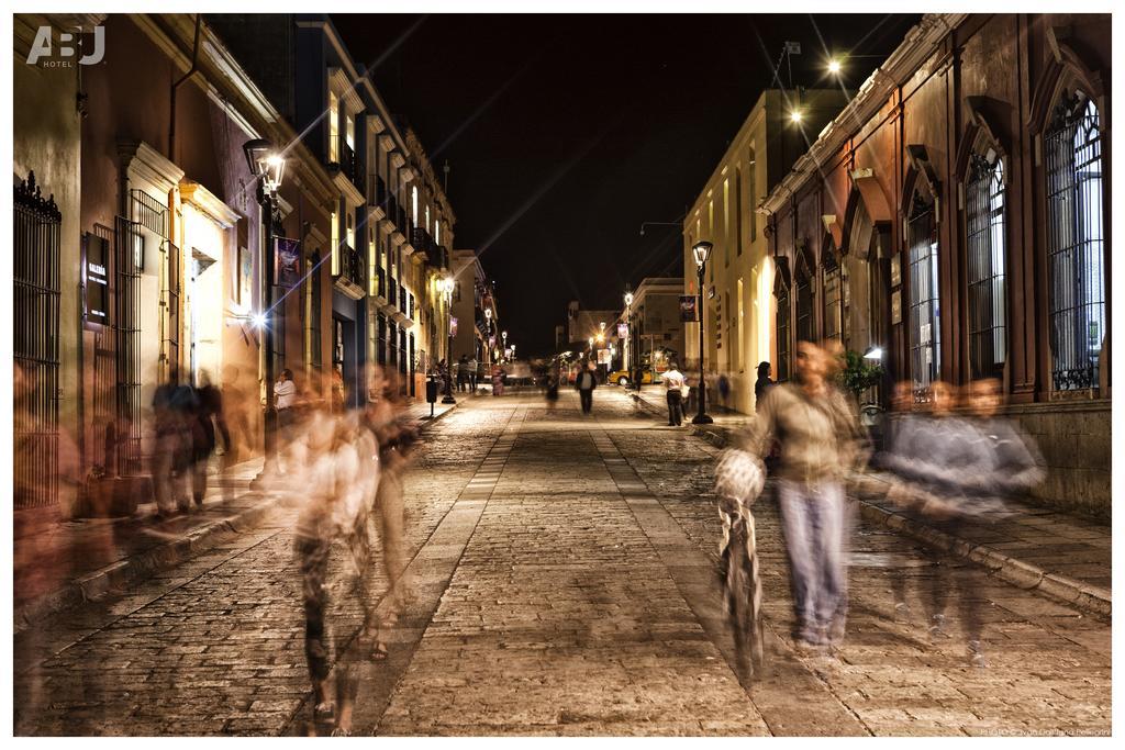
<path fill-rule="evenodd" d="M 863 82 L 858 93 L 831 123 L 820 132 L 816 143 L 796 160 L 793 169 L 773 189 L 758 208 L 759 213 L 776 214 L 813 177 L 819 165 L 836 157 L 847 141 L 903 85 L 926 60 L 940 51 L 945 38 L 969 13 L 927 13 L 911 28 L 906 39 L 886 61 Z"/>

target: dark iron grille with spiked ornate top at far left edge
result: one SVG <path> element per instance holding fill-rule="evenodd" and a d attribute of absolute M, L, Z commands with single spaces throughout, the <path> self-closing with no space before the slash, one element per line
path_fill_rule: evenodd
<path fill-rule="evenodd" d="M 12 300 L 16 509 L 58 503 L 58 264 L 62 213 L 35 172 L 16 186 Z"/>

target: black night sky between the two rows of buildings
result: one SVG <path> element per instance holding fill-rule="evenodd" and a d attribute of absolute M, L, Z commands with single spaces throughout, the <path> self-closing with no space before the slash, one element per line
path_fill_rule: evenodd
<path fill-rule="evenodd" d="M 480 252 L 521 355 L 554 347 L 566 304 L 621 306 L 626 282 L 680 275 L 683 216 L 785 39 L 793 83 L 849 92 L 917 15 L 334 15 L 438 174 L 449 160 L 457 249 Z M 788 85 L 788 71 L 782 70 Z"/>

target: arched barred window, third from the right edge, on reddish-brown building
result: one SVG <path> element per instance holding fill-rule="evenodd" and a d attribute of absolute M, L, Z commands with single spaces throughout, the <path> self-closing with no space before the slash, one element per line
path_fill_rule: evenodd
<path fill-rule="evenodd" d="M 910 374 L 915 400 L 927 400 L 940 373 L 937 223 L 933 204 L 915 193 L 907 223 L 910 249 Z"/>

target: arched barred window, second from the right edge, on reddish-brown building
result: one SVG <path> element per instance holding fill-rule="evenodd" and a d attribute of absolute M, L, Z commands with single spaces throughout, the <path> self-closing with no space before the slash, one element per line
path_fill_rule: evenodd
<path fill-rule="evenodd" d="M 1004 374 L 1006 349 L 1004 162 L 996 151 L 973 154 L 965 186 L 969 241 L 970 376 Z"/>

